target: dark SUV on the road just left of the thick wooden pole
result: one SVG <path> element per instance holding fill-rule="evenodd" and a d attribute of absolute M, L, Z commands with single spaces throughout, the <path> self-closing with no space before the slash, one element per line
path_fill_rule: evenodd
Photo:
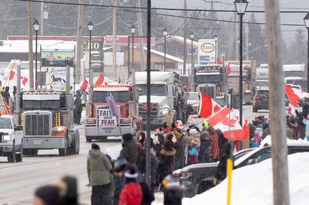
<path fill-rule="evenodd" d="M 258 110 L 268 110 L 269 109 L 269 89 L 263 88 L 256 91 L 253 97 L 252 111 L 257 112 Z"/>

